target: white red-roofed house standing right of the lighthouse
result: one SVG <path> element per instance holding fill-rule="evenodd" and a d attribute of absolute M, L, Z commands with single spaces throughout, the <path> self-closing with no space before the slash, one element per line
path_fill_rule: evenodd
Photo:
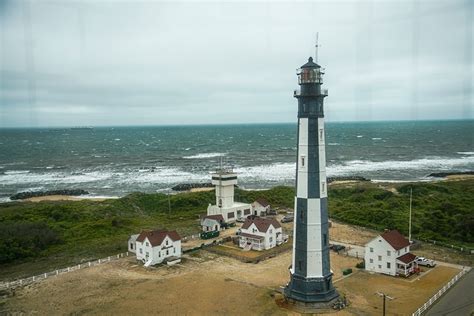
<path fill-rule="evenodd" d="M 408 276 L 417 269 L 410 242 L 397 230 L 377 236 L 365 245 L 365 269 L 389 275 Z"/>

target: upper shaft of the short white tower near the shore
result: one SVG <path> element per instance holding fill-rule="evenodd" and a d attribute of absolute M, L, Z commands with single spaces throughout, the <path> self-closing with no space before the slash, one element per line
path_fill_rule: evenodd
<path fill-rule="evenodd" d="M 212 174 L 212 184 L 216 186 L 217 207 L 232 207 L 234 205 L 234 186 L 237 184 L 237 174 L 232 170 L 221 168 Z"/>

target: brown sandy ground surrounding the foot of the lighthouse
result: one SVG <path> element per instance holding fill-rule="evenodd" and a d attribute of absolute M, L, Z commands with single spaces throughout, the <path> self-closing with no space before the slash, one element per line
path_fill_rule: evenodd
<path fill-rule="evenodd" d="M 174 267 L 145 269 L 133 258 L 87 268 L 32 284 L 16 291 L 0 314 L 166 314 L 288 315 L 275 303 L 289 279 L 291 252 L 258 264 L 245 264 L 207 251 L 186 255 Z M 331 252 L 334 284 L 351 306 L 341 315 L 379 315 L 377 291 L 396 298 L 392 315 L 406 315 L 422 305 L 458 272 L 436 267 L 411 280 L 354 269 L 357 260 Z M 352 267 L 349 277 L 342 270 Z"/>

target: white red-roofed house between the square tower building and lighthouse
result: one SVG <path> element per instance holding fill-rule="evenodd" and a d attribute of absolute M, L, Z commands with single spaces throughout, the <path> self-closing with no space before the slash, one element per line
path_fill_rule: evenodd
<path fill-rule="evenodd" d="M 240 228 L 239 246 L 244 250 L 266 250 L 282 243 L 281 225 L 274 218 L 247 218 Z"/>

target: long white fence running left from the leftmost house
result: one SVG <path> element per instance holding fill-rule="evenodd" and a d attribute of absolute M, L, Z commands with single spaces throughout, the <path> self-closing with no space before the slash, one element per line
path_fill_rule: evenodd
<path fill-rule="evenodd" d="M 99 260 L 80 263 L 80 264 L 77 264 L 77 265 L 72 266 L 72 267 L 67 267 L 67 268 L 64 268 L 64 269 L 58 269 L 58 270 L 55 270 L 55 271 L 42 273 L 42 274 L 35 275 L 35 276 L 25 278 L 25 279 L 15 280 L 15 281 L 11 281 L 11 282 L 0 282 L 0 290 L 13 289 L 13 288 L 25 286 L 25 285 L 31 284 L 33 282 L 44 280 L 44 279 L 47 279 L 47 278 L 50 278 L 50 277 L 53 277 L 53 276 L 57 276 L 57 275 L 60 275 L 60 274 L 63 274 L 63 273 L 68 273 L 68 272 L 72 272 L 72 271 L 76 271 L 76 270 L 80 270 L 80 269 L 84 269 L 84 268 L 88 268 L 88 267 L 93 267 L 93 266 L 103 264 L 103 263 L 107 263 L 107 262 L 117 260 L 117 259 L 120 259 L 120 258 L 123 258 L 123 257 L 128 257 L 128 255 L 129 255 L 129 253 L 127 251 L 127 252 L 124 252 L 124 253 L 119 253 L 118 255 L 115 255 L 115 256 L 109 256 L 107 258 L 103 258 L 103 259 L 99 259 Z"/>

